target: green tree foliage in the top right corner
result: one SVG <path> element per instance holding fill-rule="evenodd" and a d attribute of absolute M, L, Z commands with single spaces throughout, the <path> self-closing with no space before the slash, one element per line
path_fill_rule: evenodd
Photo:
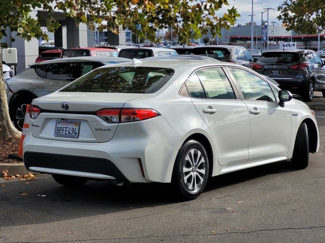
<path fill-rule="evenodd" d="M 278 8 L 278 19 L 287 30 L 293 29 L 303 34 L 315 34 L 325 30 L 324 0 L 285 0 Z"/>

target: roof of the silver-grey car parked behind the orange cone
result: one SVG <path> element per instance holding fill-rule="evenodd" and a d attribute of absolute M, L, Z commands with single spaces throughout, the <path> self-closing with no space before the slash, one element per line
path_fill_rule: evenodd
<path fill-rule="evenodd" d="M 98 61 L 102 63 L 107 62 L 130 62 L 132 60 L 127 58 L 121 58 L 121 57 L 68 57 L 68 58 L 59 58 L 54 60 L 48 60 L 44 62 L 37 62 L 34 64 L 30 64 L 29 66 L 36 66 L 36 65 L 43 65 L 43 64 L 51 64 L 51 63 L 67 63 L 67 62 L 83 62 L 83 61 Z"/>

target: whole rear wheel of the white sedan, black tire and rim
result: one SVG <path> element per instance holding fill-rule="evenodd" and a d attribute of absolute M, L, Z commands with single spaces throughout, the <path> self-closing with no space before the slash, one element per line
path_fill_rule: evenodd
<path fill-rule="evenodd" d="M 188 154 L 190 157 L 187 157 Z M 180 148 L 174 166 L 173 183 L 177 194 L 182 199 L 197 198 L 204 190 L 208 178 L 209 160 L 206 150 L 198 141 L 187 141 Z"/>

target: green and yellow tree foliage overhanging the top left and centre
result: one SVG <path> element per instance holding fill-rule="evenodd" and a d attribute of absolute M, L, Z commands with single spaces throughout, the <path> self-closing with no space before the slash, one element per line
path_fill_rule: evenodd
<path fill-rule="evenodd" d="M 48 40 L 38 19 L 30 16 L 36 8 L 42 8 L 48 12 L 42 20 L 52 32 L 59 27 L 53 17 L 56 9 L 74 18 L 76 23 L 88 22 L 91 29 L 98 26 L 100 31 L 108 28 L 119 33 L 120 29 L 128 28 L 140 37 L 146 33 L 152 41 L 158 28 L 173 26 L 179 40 L 185 43 L 206 34 L 208 29 L 213 36 L 220 35 L 221 28 L 229 29 L 240 15 L 232 7 L 222 17 L 216 17 L 216 12 L 224 5 L 229 5 L 227 0 L 1 0 L 0 38 L 6 36 L 5 30 L 9 27 L 27 41 L 41 36 Z M 140 29 L 137 28 L 139 24 Z"/>

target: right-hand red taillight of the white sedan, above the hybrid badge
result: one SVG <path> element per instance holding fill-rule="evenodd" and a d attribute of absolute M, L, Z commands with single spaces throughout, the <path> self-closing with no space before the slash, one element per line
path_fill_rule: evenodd
<path fill-rule="evenodd" d="M 160 115 L 157 111 L 149 108 L 123 108 L 104 109 L 96 112 L 108 123 L 127 123 L 129 121 L 146 120 Z"/>

